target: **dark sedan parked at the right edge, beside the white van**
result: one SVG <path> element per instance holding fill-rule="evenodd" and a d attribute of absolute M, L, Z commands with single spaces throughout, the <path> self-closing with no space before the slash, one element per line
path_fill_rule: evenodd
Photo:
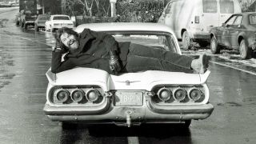
<path fill-rule="evenodd" d="M 219 54 L 223 48 L 238 50 L 242 59 L 251 58 L 256 50 L 256 13 L 233 14 L 210 30 L 210 50 Z"/>

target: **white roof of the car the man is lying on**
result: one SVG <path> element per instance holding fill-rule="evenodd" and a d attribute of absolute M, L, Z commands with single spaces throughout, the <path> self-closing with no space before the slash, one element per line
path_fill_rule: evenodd
<path fill-rule="evenodd" d="M 81 33 L 85 28 L 94 31 L 158 31 L 168 32 L 174 35 L 174 31 L 170 27 L 162 23 L 150 22 L 105 22 L 105 23 L 86 23 L 77 26 L 75 29 Z"/>

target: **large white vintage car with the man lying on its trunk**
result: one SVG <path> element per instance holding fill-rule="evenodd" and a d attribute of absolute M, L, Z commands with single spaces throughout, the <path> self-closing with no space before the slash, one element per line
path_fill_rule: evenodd
<path fill-rule="evenodd" d="M 85 28 L 112 34 L 118 42 L 181 54 L 173 30 L 159 23 L 82 24 L 76 31 Z M 146 70 L 118 76 L 86 67 L 58 74 L 48 70 L 43 110 L 64 127 L 76 122 L 118 126 L 179 122 L 188 127 L 192 119 L 208 118 L 214 110 L 206 84 L 209 75 L 209 70 L 205 74 Z"/>

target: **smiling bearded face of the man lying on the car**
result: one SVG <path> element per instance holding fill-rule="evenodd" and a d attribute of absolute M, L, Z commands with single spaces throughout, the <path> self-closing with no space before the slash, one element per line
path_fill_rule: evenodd
<path fill-rule="evenodd" d="M 61 35 L 61 41 L 70 50 L 77 50 L 79 47 L 78 38 L 74 34 L 63 33 Z"/>

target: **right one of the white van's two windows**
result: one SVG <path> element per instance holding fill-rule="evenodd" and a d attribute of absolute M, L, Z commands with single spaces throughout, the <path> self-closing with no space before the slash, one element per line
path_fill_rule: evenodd
<path fill-rule="evenodd" d="M 220 0 L 221 14 L 234 14 L 234 2 L 232 0 Z"/>

